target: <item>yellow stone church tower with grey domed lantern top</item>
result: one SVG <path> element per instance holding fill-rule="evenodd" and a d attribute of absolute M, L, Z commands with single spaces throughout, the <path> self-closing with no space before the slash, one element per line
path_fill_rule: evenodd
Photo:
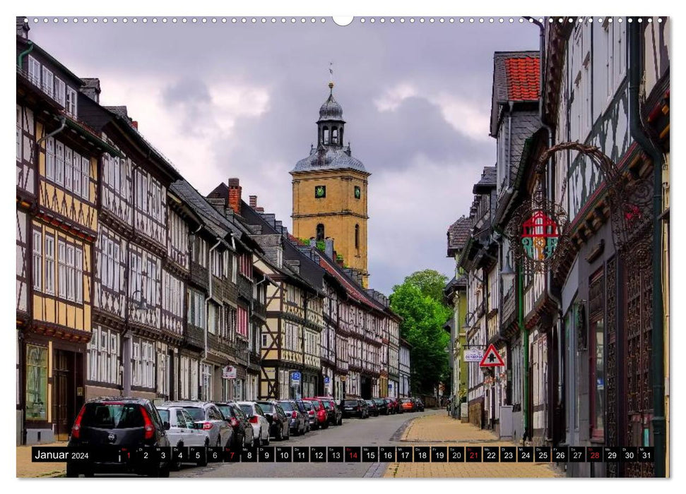
<path fill-rule="evenodd" d="M 343 109 L 329 97 L 319 109 L 317 146 L 290 171 L 293 177 L 293 235 L 300 239 L 333 239 L 343 263 L 362 275 L 367 271 L 367 177 L 365 165 L 343 145 Z"/>

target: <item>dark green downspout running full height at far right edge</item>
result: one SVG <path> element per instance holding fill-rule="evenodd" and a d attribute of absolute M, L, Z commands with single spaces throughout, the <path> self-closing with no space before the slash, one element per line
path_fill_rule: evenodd
<path fill-rule="evenodd" d="M 641 84 L 641 25 L 629 23 L 629 131 L 632 138 L 649 155 L 653 162 L 653 320 L 651 321 L 651 376 L 653 385 L 653 441 L 655 447 L 655 476 L 666 474 L 665 438 L 665 374 L 664 332 L 662 295 L 662 167 L 663 156 L 644 131 L 639 114 L 639 90 Z"/>

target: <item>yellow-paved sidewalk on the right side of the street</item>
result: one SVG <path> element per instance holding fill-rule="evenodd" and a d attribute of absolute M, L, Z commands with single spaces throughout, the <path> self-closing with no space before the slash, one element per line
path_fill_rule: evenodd
<path fill-rule="evenodd" d="M 461 423 L 447 414 L 419 415 L 401 436 L 408 446 L 516 446 L 490 432 Z M 548 463 L 391 463 L 384 477 L 560 477 Z"/>

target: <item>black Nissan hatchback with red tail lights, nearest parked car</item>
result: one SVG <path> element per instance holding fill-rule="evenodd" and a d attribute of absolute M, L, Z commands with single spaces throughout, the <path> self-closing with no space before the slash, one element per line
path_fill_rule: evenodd
<path fill-rule="evenodd" d="M 100 473 L 121 473 L 168 477 L 170 462 L 139 462 L 139 447 L 155 452 L 155 447 L 170 447 L 169 422 L 152 402 L 142 398 L 90 399 L 78 412 L 71 428 L 69 447 L 86 447 L 92 457 L 67 462 L 66 476 L 87 477 Z M 121 454 L 125 448 L 129 454 Z"/>

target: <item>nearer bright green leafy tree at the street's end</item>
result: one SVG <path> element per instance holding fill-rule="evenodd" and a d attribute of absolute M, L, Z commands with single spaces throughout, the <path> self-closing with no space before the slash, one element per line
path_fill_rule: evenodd
<path fill-rule="evenodd" d="M 446 349 L 450 335 L 443 325 L 451 313 L 442 302 L 424 294 L 410 278 L 393 287 L 391 308 L 403 318 L 400 334 L 411 346 L 412 391 L 431 393 L 449 370 Z"/>

